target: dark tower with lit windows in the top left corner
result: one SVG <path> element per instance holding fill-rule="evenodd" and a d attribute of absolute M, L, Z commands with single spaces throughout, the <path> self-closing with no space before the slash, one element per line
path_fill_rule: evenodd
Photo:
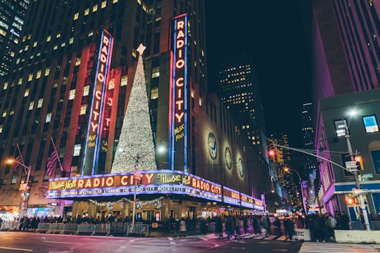
<path fill-rule="evenodd" d="M 11 62 L 17 53 L 29 3 L 29 0 L 0 2 L 0 76 L 8 74 Z"/>

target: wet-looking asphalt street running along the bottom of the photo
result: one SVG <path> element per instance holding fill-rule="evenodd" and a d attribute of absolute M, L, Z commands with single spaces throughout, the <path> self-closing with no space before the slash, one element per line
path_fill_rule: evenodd
<path fill-rule="evenodd" d="M 55 235 L 1 231 L 0 252 L 379 252 L 380 245 L 287 242 L 280 238 L 227 240 L 213 233 L 172 237 Z"/>

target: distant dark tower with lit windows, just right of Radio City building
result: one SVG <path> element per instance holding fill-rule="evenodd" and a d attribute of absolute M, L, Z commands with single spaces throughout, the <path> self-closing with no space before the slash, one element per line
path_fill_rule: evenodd
<path fill-rule="evenodd" d="M 265 157 L 267 140 L 260 85 L 252 60 L 245 52 L 230 53 L 220 63 L 219 93 L 224 105 L 241 124 L 252 144 Z"/>

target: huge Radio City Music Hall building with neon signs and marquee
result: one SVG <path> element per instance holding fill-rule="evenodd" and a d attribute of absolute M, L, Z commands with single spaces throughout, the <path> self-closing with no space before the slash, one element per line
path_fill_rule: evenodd
<path fill-rule="evenodd" d="M 141 201 L 152 201 L 139 205 L 143 219 L 224 214 L 224 204 L 263 210 L 254 197 L 270 182 L 267 163 L 236 131 L 220 99 L 207 92 L 203 5 L 192 0 L 31 2 L 20 50 L 9 77 L 0 80 L 0 156 L 22 155 L 32 168 L 28 215 L 45 212 L 53 201 L 59 203 L 54 214 L 63 216 L 130 216 L 137 191 Z M 140 59 L 141 44 L 146 49 Z M 110 173 L 115 153 L 123 152 L 118 143 L 125 141 L 120 138 L 129 102 L 147 109 L 145 101 L 136 105 L 132 98 L 135 83 L 143 87 L 144 82 L 146 91 L 139 92 L 146 92 L 151 119 L 144 128 L 151 127 L 157 169 L 139 171 L 137 184 L 133 173 L 123 172 L 137 164 Z M 137 124 L 147 124 L 132 115 Z M 56 162 L 48 174 L 51 145 L 62 169 Z M 144 164 L 150 152 L 133 158 Z M 1 176 L 2 193 L 12 194 L 1 193 L 0 202 L 16 206 L 14 190 L 25 173 L 8 166 Z M 112 202 L 113 209 L 92 205 L 102 201 Z"/>

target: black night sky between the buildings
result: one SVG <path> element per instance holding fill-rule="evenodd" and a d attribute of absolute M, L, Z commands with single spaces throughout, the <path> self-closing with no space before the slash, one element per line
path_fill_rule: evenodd
<path fill-rule="evenodd" d="M 267 135 L 302 148 L 300 112 L 310 103 L 310 63 L 297 0 L 206 1 L 209 85 L 224 51 L 246 51 L 260 82 Z M 217 4 L 215 4 L 217 3 Z"/>

